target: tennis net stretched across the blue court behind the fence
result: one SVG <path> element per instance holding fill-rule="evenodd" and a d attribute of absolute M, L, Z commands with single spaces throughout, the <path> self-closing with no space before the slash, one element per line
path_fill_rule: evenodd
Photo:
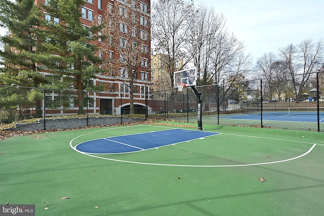
<path fill-rule="evenodd" d="M 324 107 L 319 107 L 324 115 Z M 243 114 L 261 115 L 261 107 L 244 107 Z M 262 115 L 317 115 L 317 107 L 262 107 Z"/>

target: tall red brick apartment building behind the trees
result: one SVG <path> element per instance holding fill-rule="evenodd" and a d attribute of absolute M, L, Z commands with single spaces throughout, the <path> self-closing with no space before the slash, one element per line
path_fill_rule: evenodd
<path fill-rule="evenodd" d="M 85 27 L 92 26 L 94 22 L 98 20 L 109 19 L 105 17 L 107 10 L 112 10 L 113 7 L 116 7 L 118 3 L 119 13 L 124 13 L 125 16 L 131 18 L 133 14 L 140 16 L 137 20 L 139 26 L 143 27 L 143 30 L 140 30 L 140 34 L 137 34 L 136 37 L 140 37 L 143 49 L 147 50 L 146 53 L 142 56 L 142 64 L 139 68 L 136 69 L 136 75 L 133 80 L 133 90 L 134 90 L 134 110 L 135 113 L 145 112 L 145 101 L 150 100 L 150 84 L 151 84 L 151 73 L 150 73 L 150 37 L 143 36 L 148 34 L 150 35 L 150 0 L 85 0 L 86 4 L 80 9 L 82 12 L 82 17 L 80 18 L 81 22 Z M 40 6 L 40 4 L 47 4 L 47 0 L 35 0 L 35 4 Z M 134 13 L 133 13 L 134 12 Z M 50 14 L 45 13 L 45 19 L 59 19 L 53 18 Z M 54 20 L 55 21 L 55 20 Z M 57 20 L 59 22 L 59 20 Z M 123 23 L 121 26 L 125 25 Z M 120 28 L 120 31 L 122 29 Z M 142 34 L 142 32 L 144 32 Z M 99 33 L 100 34 L 100 33 Z M 115 38 L 118 36 L 111 35 Z M 134 35 L 132 35 L 134 36 Z M 119 38 L 120 40 L 128 40 L 128 38 Z M 96 45 L 103 46 L 101 39 L 93 41 Z M 109 56 L 105 57 L 102 55 L 102 58 L 112 58 L 113 61 L 119 61 L 120 54 L 116 47 L 109 47 Z M 100 67 L 100 66 L 98 66 Z M 129 78 L 125 75 L 125 68 L 120 66 L 112 74 L 97 74 L 97 78 L 94 80 L 96 85 L 104 84 L 104 92 L 91 92 L 88 96 L 92 98 L 93 104 L 88 107 L 90 113 L 94 114 L 109 114 L 109 115 L 119 115 L 121 112 L 127 114 L 130 112 L 130 92 L 129 88 Z M 117 77 L 116 74 L 120 74 L 120 77 Z M 54 95 L 47 95 L 53 96 Z M 149 101 L 150 103 L 150 101 Z M 77 107 L 71 107 L 71 110 L 77 110 Z M 150 110 L 150 109 L 148 109 Z"/>

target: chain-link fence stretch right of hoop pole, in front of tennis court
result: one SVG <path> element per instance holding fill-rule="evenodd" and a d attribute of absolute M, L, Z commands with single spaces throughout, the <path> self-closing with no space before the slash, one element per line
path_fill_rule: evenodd
<path fill-rule="evenodd" d="M 197 86 L 203 123 L 324 131 L 323 77 L 318 72 Z"/>

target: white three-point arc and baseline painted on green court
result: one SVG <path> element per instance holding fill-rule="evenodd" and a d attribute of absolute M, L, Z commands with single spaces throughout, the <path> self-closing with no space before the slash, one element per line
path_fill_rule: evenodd
<path fill-rule="evenodd" d="M 134 125 L 134 126 L 138 126 L 138 125 Z M 143 125 L 141 125 L 143 126 Z M 127 126 L 127 127 L 133 127 L 133 126 Z M 169 127 L 162 127 L 162 126 L 154 126 L 154 127 L 161 127 L 161 128 L 169 128 Z M 115 128 L 114 128 L 115 129 Z M 170 128 L 169 128 L 170 129 Z M 109 130 L 109 129 L 106 129 Z M 101 131 L 101 130 L 99 130 Z M 94 133 L 94 132 L 98 132 L 98 131 L 93 131 L 90 133 Z M 121 163 L 130 163 L 130 164 L 140 164 L 140 165 L 155 165 L 155 166 L 168 166 L 168 167 L 248 167 L 248 166 L 257 166 L 257 165 L 268 165 L 268 164 L 277 164 L 277 163 L 282 163 L 282 162 L 287 162 L 290 160 L 294 160 L 294 159 L 298 159 L 300 157 L 303 157 L 305 155 L 307 155 L 308 153 L 310 153 L 313 148 L 316 145 L 324 145 L 324 144 L 317 144 L 317 143 L 310 143 L 310 142 L 301 142 L 301 141 L 294 141 L 294 140 L 285 140 L 285 139 L 277 139 L 277 138 L 269 138 L 269 137 L 258 137 L 258 136 L 248 136 L 248 135 L 240 135 L 240 134 L 229 134 L 229 133 L 219 133 L 219 134 L 226 134 L 226 135 L 235 135 L 235 136 L 245 136 L 245 137 L 254 137 L 254 138 L 263 138 L 263 139 L 273 139 L 273 140 L 281 140 L 281 141 L 289 141 L 289 142 L 298 142 L 298 143 L 305 143 L 305 144 L 313 144 L 310 149 L 308 151 L 306 151 L 305 153 L 293 157 L 293 158 L 289 158 L 289 159 L 285 159 L 285 160 L 277 160 L 277 161 L 271 161 L 271 162 L 266 162 L 266 163 L 256 163 L 256 164 L 240 164 L 240 165 L 175 165 L 175 164 L 153 164 L 153 163 L 143 163 L 143 162 L 136 162 L 136 161 L 129 161 L 129 160 L 118 160 L 118 159 L 112 159 L 112 158 L 106 158 L 106 157 L 101 157 L 101 156 L 96 156 L 96 155 L 92 155 L 89 153 L 85 153 L 83 151 L 79 151 L 75 148 L 75 146 L 73 147 L 72 142 L 73 140 L 77 139 L 78 137 L 90 134 L 90 133 L 86 133 L 80 136 L 77 136 L 75 138 L 73 138 L 70 141 L 70 147 L 72 149 L 74 149 L 75 151 L 91 156 L 91 157 L 96 157 L 96 158 L 100 158 L 100 159 L 105 159 L 105 160 L 111 160 L 111 161 L 117 161 L 117 162 L 121 162 Z"/>

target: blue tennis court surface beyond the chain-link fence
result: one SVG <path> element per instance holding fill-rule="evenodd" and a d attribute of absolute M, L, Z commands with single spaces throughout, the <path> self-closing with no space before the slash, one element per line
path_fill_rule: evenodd
<path fill-rule="evenodd" d="M 217 118 L 217 117 L 216 117 Z M 261 120 L 260 114 L 244 114 L 235 116 L 219 117 L 220 119 L 237 119 L 237 120 Z M 262 120 L 272 121 L 290 121 L 290 122 L 317 122 L 317 115 L 302 114 L 266 114 L 262 115 Z M 324 114 L 319 115 L 319 122 L 324 121 Z"/>

